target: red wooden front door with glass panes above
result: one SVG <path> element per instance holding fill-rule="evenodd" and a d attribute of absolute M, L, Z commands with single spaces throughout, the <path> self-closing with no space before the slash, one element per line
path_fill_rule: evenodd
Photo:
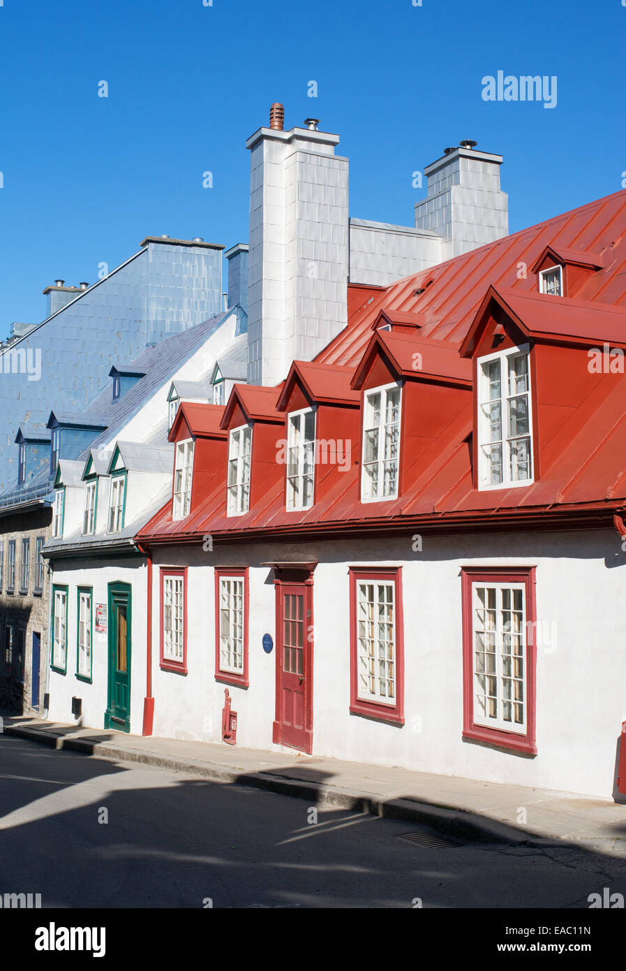
<path fill-rule="evenodd" d="M 311 752 L 313 611 L 309 584 L 277 581 L 277 717 L 274 741 Z"/>

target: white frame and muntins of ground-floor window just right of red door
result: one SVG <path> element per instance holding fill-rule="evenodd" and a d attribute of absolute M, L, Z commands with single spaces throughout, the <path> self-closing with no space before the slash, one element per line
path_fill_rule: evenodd
<path fill-rule="evenodd" d="M 374 610 L 368 609 L 363 612 L 363 606 L 369 607 L 370 601 L 362 598 L 362 588 L 374 586 Z M 391 601 L 385 599 L 384 604 L 391 604 L 391 619 L 379 618 L 376 610 L 379 605 L 379 587 L 391 590 Z M 367 591 L 366 591 L 367 592 Z M 395 579 L 371 580 L 367 577 L 356 577 L 356 697 L 359 701 L 371 701 L 378 705 L 389 705 L 395 708 L 398 702 L 398 645 L 396 643 L 396 582 Z M 370 616 L 371 614 L 371 616 Z M 378 616 L 377 616 L 378 615 Z M 390 632 L 389 639 L 380 639 L 379 633 L 382 625 L 385 625 Z M 390 653 L 389 654 L 389 646 Z M 386 653 L 385 653 L 386 649 Z M 380 691 L 380 665 L 385 665 L 385 670 L 389 675 L 384 680 L 393 683 L 393 693 L 391 695 L 382 694 Z M 374 682 L 375 689 L 365 690 L 363 680 L 367 679 L 370 683 Z"/>

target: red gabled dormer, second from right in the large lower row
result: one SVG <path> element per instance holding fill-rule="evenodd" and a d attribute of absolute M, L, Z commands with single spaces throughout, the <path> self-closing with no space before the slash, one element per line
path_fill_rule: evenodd
<path fill-rule="evenodd" d="M 377 330 L 351 386 L 362 395 L 361 501 L 388 502 L 467 406 L 472 371 L 457 345 Z"/>

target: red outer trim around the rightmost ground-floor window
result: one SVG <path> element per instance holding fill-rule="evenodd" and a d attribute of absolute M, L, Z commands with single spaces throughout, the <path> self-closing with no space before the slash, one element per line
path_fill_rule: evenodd
<path fill-rule="evenodd" d="M 526 733 L 489 728 L 474 720 L 474 637 L 472 624 L 472 585 L 475 583 L 524 584 L 526 621 L 537 621 L 536 572 L 534 566 L 520 567 L 461 567 L 463 602 L 463 738 L 485 742 L 512 752 L 537 754 L 535 736 L 537 649 L 533 637 L 526 639 L 526 703 L 528 705 Z M 533 626 L 531 628 L 535 630 Z"/>

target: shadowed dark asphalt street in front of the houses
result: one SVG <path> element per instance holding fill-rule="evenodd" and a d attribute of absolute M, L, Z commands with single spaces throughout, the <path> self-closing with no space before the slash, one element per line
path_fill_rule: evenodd
<path fill-rule="evenodd" d="M 604 887 L 626 896 L 620 856 L 432 835 L 0 735 L 0 895 L 41 893 L 42 907 L 586 909 Z"/>

